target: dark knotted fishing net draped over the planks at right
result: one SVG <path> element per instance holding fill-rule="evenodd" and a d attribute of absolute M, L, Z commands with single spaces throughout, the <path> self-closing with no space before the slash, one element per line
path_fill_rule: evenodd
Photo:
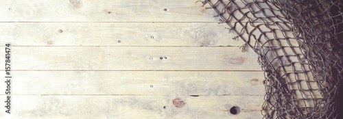
<path fill-rule="evenodd" d="M 264 71 L 263 118 L 337 118 L 343 79 L 340 0 L 206 0 Z"/>

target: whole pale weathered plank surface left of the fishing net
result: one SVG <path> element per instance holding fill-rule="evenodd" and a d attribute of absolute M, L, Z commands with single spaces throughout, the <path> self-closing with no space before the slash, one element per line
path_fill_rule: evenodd
<path fill-rule="evenodd" d="M 12 114 L 3 107 L 0 118 L 261 118 L 257 55 L 242 53 L 237 34 L 206 7 L 1 1 L 0 48 L 12 43 L 13 95 Z M 233 106 L 241 112 L 231 114 Z"/>

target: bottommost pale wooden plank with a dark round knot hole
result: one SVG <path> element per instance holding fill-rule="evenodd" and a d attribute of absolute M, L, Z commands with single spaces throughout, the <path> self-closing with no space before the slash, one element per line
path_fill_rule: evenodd
<path fill-rule="evenodd" d="M 263 96 L 13 95 L 12 98 L 12 114 L 1 113 L 1 118 L 262 118 L 263 103 Z M 230 114 L 228 110 L 233 106 L 241 109 L 239 114 Z"/>

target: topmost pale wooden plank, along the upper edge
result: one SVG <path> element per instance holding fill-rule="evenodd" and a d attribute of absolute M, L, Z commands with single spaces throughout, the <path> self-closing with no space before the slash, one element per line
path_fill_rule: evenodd
<path fill-rule="evenodd" d="M 2 1 L 1 22 L 218 22 L 197 0 Z"/>

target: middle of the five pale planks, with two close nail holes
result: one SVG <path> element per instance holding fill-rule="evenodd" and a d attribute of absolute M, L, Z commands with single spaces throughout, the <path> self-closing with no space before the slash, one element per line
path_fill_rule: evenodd
<path fill-rule="evenodd" d="M 261 70 L 255 53 L 236 47 L 12 47 L 11 53 L 12 70 Z"/>

